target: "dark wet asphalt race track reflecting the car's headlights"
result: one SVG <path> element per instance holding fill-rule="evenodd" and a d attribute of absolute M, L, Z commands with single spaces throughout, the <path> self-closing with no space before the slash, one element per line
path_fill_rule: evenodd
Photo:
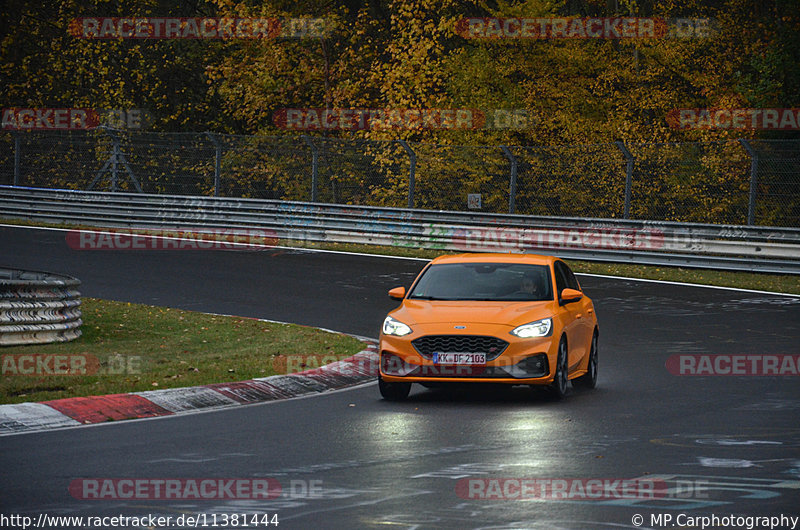
<path fill-rule="evenodd" d="M 366 336 L 422 262 L 302 251 L 73 251 L 0 228 L 0 266 L 63 272 L 85 296 Z M 797 298 L 581 277 L 601 325 L 599 386 L 380 400 L 329 395 L 0 438 L 0 513 L 277 513 L 279 528 L 634 528 L 634 514 L 800 515 L 800 378 L 677 377 L 678 353 L 797 354 Z M 471 500 L 463 478 L 659 477 L 656 500 Z M 92 501 L 75 478 L 264 478 L 274 501 Z M 295 481 L 295 482 L 292 482 Z M 300 482 L 297 482 L 300 481 Z M 305 482 L 302 482 L 305 481 Z M 316 482 L 310 482 L 316 481 Z M 312 484 L 315 495 L 292 484 Z M 696 491 L 699 489 L 699 491 Z M 681 519 L 690 522 L 690 519 Z M 662 520 L 663 522 L 663 520 Z M 675 522 L 675 519 L 672 521 Z"/>

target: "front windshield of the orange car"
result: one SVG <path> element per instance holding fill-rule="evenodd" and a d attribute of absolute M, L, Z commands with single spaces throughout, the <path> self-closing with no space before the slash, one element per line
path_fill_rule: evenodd
<path fill-rule="evenodd" d="M 531 302 L 553 293 L 545 265 L 447 263 L 428 267 L 408 298 Z"/>

